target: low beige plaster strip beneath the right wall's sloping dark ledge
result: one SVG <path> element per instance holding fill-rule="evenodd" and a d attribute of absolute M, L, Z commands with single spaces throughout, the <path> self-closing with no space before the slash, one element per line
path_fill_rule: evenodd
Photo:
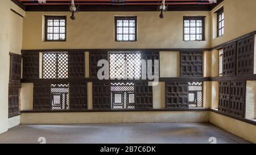
<path fill-rule="evenodd" d="M 256 143 L 256 125 L 241 122 L 240 120 L 216 114 L 215 112 L 210 112 L 209 115 L 210 123 L 217 125 L 242 139 L 250 141 L 251 143 Z"/>

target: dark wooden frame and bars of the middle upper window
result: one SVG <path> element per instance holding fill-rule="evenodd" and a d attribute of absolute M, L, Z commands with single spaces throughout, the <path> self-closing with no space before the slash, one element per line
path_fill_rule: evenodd
<path fill-rule="evenodd" d="M 134 40 L 117 40 L 117 20 L 135 20 L 135 30 L 134 30 Z M 115 41 L 118 41 L 118 42 L 122 42 L 122 41 L 137 41 L 137 16 L 114 16 L 114 28 L 115 28 L 115 32 L 114 32 L 114 35 L 115 35 Z M 123 27 L 123 26 L 122 26 Z M 130 33 L 128 33 L 129 35 Z M 123 35 L 123 33 L 122 33 Z"/>

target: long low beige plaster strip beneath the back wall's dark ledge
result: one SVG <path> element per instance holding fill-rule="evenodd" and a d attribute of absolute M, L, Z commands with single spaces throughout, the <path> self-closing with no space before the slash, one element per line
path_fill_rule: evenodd
<path fill-rule="evenodd" d="M 21 124 L 209 122 L 209 111 L 22 113 Z"/>

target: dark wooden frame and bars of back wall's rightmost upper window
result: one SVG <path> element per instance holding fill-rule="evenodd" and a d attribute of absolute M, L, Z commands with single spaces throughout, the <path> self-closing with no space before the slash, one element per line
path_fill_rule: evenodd
<path fill-rule="evenodd" d="M 183 16 L 183 41 L 205 41 L 205 17 L 206 16 Z M 189 37 L 189 40 L 185 40 L 185 20 L 202 20 L 202 39 L 201 40 L 191 40 Z M 189 25 L 189 28 L 191 26 Z M 196 35 L 197 33 L 195 33 Z M 191 35 L 191 33 L 189 32 L 189 35 Z"/>

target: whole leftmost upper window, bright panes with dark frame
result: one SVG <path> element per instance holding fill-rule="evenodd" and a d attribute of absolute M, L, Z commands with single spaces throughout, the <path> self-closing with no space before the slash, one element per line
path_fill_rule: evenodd
<path fill-rule="evenodd" d="M 45 41 L 66 41 L 66 16 L 45 16 Z"/>

